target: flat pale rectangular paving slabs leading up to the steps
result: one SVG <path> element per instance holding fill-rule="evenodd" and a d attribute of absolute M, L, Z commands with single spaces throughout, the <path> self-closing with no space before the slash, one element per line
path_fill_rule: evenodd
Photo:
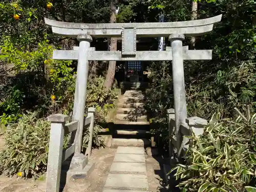
<path fill-rule="evenodd" d="M 118 146 L 103 192 L 148 191 L 143 147 Z"/>

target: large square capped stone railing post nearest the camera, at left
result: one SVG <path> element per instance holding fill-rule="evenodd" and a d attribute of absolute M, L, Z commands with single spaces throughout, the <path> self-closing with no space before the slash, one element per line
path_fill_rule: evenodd
<path fill-rule="evenodd" d="M 55 114 L 48 117 L 48 121 L 51 121 L 51 131 L 46 178 L 47 192 L 59 191 L 64 125 L 67 120 L 69 120 L 69 116 L 62 114 Z"/>

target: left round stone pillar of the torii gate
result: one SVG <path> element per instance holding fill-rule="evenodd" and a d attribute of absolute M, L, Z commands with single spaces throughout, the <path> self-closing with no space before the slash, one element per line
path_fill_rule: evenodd
<path fill-rule="evenodd" d="M 84 123 L 84 108 L 86 104 L 87 80 L 89 71 L 88 51 L 92 37 L 89 34 L 80 34 L 77 36 L 79 42 L 79 57 L 77 64 L 76 90 L 73 109 L 73 121 L 78 121 L 78 129 L 72 132 L 71 142 L 75 143 L 75 155 L 72 164 L 83 168 L 87 164 L 87 159 L 81 154 L 82 131 Z M 78 166 L 78 167 L 77 167 Z"/>

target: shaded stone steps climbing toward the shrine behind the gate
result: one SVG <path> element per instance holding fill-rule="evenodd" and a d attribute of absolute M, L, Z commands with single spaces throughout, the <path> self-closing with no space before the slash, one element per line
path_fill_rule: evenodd
<path fill-rule="evenodd" d="M 143 102 L 140 90 L 127 90 L 119 98 L 112 147 L 150 145 L 149 122 Z"/>

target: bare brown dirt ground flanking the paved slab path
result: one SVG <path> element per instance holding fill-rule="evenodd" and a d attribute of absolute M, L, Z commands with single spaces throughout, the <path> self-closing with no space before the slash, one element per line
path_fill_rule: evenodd
<path fill-rule="evenodd" d="M 147 150 L 148 151 L 148 150 Z M 102 192 L 108 177 L 111 164 L 115 157 L 116 148 L 100 148 L 92 151 L 90 161 L 95 162 L 92 172 L 82 179 L 76 181 L 69 180 L 60 191 L 62 192 Z M 165 192 L 168 191 L 163 182 L 163 172 L 161 168 L 161 157 L 146 155 L 147 179 L 149 191 Z M 45 191 L 45 180 L 38 181 L 33 179 L 7 178 L 0 176 L 0 191 L 3 192 L 36 192 Z"/>

